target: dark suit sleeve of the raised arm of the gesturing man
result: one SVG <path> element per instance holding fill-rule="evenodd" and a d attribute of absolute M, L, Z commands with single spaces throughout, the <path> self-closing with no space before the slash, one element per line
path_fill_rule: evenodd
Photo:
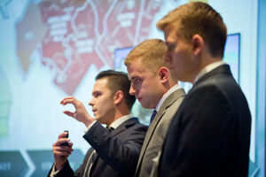
<path fill-rule="evenodd" d="M 123 132 L 125 140 L 114 137 L 105 127 L 96 122 L 83 138 L 97 151 L 98 156 L 115 171 L 135 173 L 137 159 L 145 139 L 146 127 L 138 124 Z"/>

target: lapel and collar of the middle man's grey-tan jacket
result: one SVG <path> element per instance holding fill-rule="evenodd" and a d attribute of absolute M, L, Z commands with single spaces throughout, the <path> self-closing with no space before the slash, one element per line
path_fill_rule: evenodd
<path fill-rule="evenodd" d="M 141 161 L 139 161 L 137 164 L 137 170 L 139 170 L 138 168 L 139 168 L 139 165 L 141 165 L 141 163 L 142 163 L 142 159 L 144 157 L 145 150 L 146 150 L 149 142 L 152 139 L 153 133 L 154 133 L 157 125 L 159 124 L 160 119 L 162 118 L 162 116 L 164 115 L 164 113 L 166 112 L 168 107 L 170 105 L 172 105 L 176 101 L 176 99 L 178 99 L 180 96 L 184 96 L 184 95 L 185 95 L 184 89 L 177 89 L 176 91 L 174 91 L 172 94 L 170 94 L 166 98 L 166 100 L 163 102 L 163 104 L 161 104 L 160 110 L 157 112 L 156 116 L 154 117 L 153 122 L 149 126 L 148 132 L 145 136 L 145 142 L 143 143 L 142 150 L 141 150 L 140 156 L 138 158 Z"/>

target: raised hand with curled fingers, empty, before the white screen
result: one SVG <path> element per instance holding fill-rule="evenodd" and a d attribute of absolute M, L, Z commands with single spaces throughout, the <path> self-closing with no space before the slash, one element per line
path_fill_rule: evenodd
<path fill-rule="evenodd" d="M 60 104 L 63 104 L 63 105 L 73 104 L 74 108 L 75 108 L 75 112 L 64 111 L 64 113 L 66 115 L 73 117 L 74 119 L 84 123 L 86 127 L 88 127 L 91 124 L 91 122 L 94 120 L 90 117 L 89 113 L 86 111 L 82 102 L 75 99 L 74 96 L 65 97 L 60 102 Z"/>

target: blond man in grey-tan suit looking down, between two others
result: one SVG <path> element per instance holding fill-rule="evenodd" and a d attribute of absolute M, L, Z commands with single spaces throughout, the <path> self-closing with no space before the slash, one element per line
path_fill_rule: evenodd
<path fill-rule="evenodd" d="M 138 44 L 125 59 L 131 81 L 129 93 L 142 107 L 154 109 L 135 176 L 150 176 L 157 169 L 155 159 L 160 155 L 170 121 L 185 96 L 163 59 L 166 50 L 165 42 L 149 39 Z"/>

